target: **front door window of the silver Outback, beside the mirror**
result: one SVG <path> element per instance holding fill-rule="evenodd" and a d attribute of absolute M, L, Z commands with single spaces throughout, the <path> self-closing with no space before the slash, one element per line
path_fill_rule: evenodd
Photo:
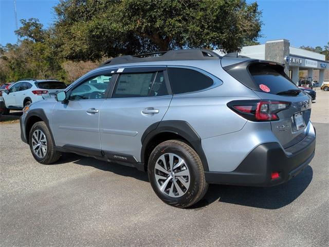
<path fill-rule="evenodd" d="M 69 100 L 104 99 L 112 75 L 100 75 L 87 79 L 71 91 Z"/>

